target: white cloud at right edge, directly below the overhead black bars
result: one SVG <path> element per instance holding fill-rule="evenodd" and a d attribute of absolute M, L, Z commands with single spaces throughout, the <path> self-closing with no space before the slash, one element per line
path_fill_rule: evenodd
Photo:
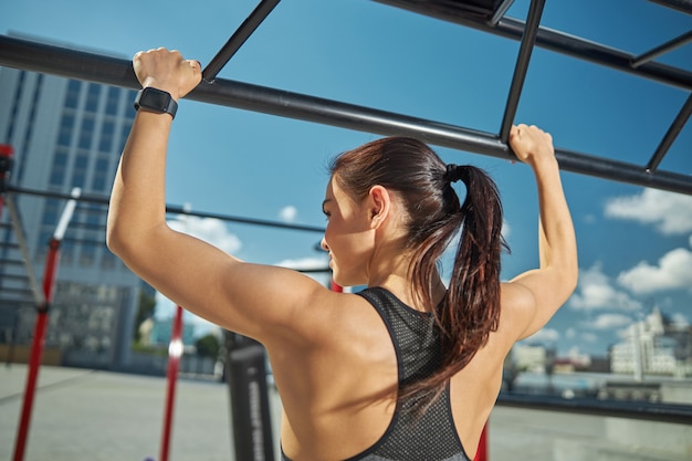
<path fill-rule="evenodd" d="M 654 224 L 663 234 L 692 232 L 692 197 L 658 189 L 644 189 L 629 197 L 616 197 L 606 203 L 608 218 Z"/>

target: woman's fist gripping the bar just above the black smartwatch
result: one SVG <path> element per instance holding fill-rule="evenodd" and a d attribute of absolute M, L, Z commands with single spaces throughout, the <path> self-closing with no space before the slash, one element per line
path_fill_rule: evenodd
<path fill-rule="evenodd" d="M 141 87 L 168 92 L 176 101 L 195 90 L 202 77 L 199 61 L 186 60 L 179 51 L 165 48 L 138 52 L 133 67 Z"/>

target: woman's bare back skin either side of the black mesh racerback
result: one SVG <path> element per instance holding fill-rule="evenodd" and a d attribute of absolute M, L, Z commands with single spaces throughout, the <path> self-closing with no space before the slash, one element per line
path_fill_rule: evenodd
<path fill-rule="evenodd" d="M 395 413 L 397 355 L 382 318 L 360 296 L 328 298 L 337 305 L 315 306 L 336 316 L 324 324 L 321 344 L 269 349 L 284 405 L 282 446 L 294 461 L 359 454 L 381 439 Z M 471 458 L 500 391 L 506 350 L 495 343 L 491 338 L 450 381 L 453 421 Z"/>

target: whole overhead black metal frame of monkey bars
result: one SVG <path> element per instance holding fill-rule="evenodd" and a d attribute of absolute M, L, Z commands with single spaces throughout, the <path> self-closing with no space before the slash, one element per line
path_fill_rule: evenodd
<path fill-rule="evenodd" d="M 692 195 L 690 174 L 659 169 L 662 158 L 692 114 L 692 72 L 654 61 L 656 57 L 692 41 L 692 32 L 636 55 L 541 27 L 545 0 L 531 2 L 525 22 L 504 17 L 512 3 L 511 0 L 375 0 L 521 41 L 502 126 L 500 133 L 495 134 L 251 83 L 217 78 L 219 71 L 273 11 L 279 1 L 260 1 L 250 17 L 205 67 L 203 81 L 190 93 L 188 96 L 190 99 L 379 135 L 407 134 L 438 146 L 513 158 L 507 146 L 510 127 L 516 114 L 532 51 L 535 46 L 541 46 L 691 92 L 668 132 L 662 134 L 658 148 L 646 165 L 557 148 L 556 156 L 560 169 Z M 692 12 L 685 2 L 656 1 L 679 9 L 682 13 Z M 139 86 L 130 61 L 4 35 L 0 35 L 0 65 L 129 88 Z"/>

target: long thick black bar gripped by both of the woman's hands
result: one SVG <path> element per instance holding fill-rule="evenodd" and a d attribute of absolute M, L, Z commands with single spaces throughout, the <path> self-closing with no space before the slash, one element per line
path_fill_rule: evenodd
<path fill-rule="evenodd" d="M 132 62 L 0 35 L 0 65 L 136 88 Z M 112 73 L 104 72 L 104 66 Z M 380 135 L 409 135 L 429 144 L 514 159 L 496 135 L 316 96 L 217 78 L 190 99 Z M 692 177 L 556 149 L 560 168 L 608 180 L 692 195 Z M 181 210 L 181 208 L 180 208 Z M 316 229 L 313 229 L 316 231 Z"/>

